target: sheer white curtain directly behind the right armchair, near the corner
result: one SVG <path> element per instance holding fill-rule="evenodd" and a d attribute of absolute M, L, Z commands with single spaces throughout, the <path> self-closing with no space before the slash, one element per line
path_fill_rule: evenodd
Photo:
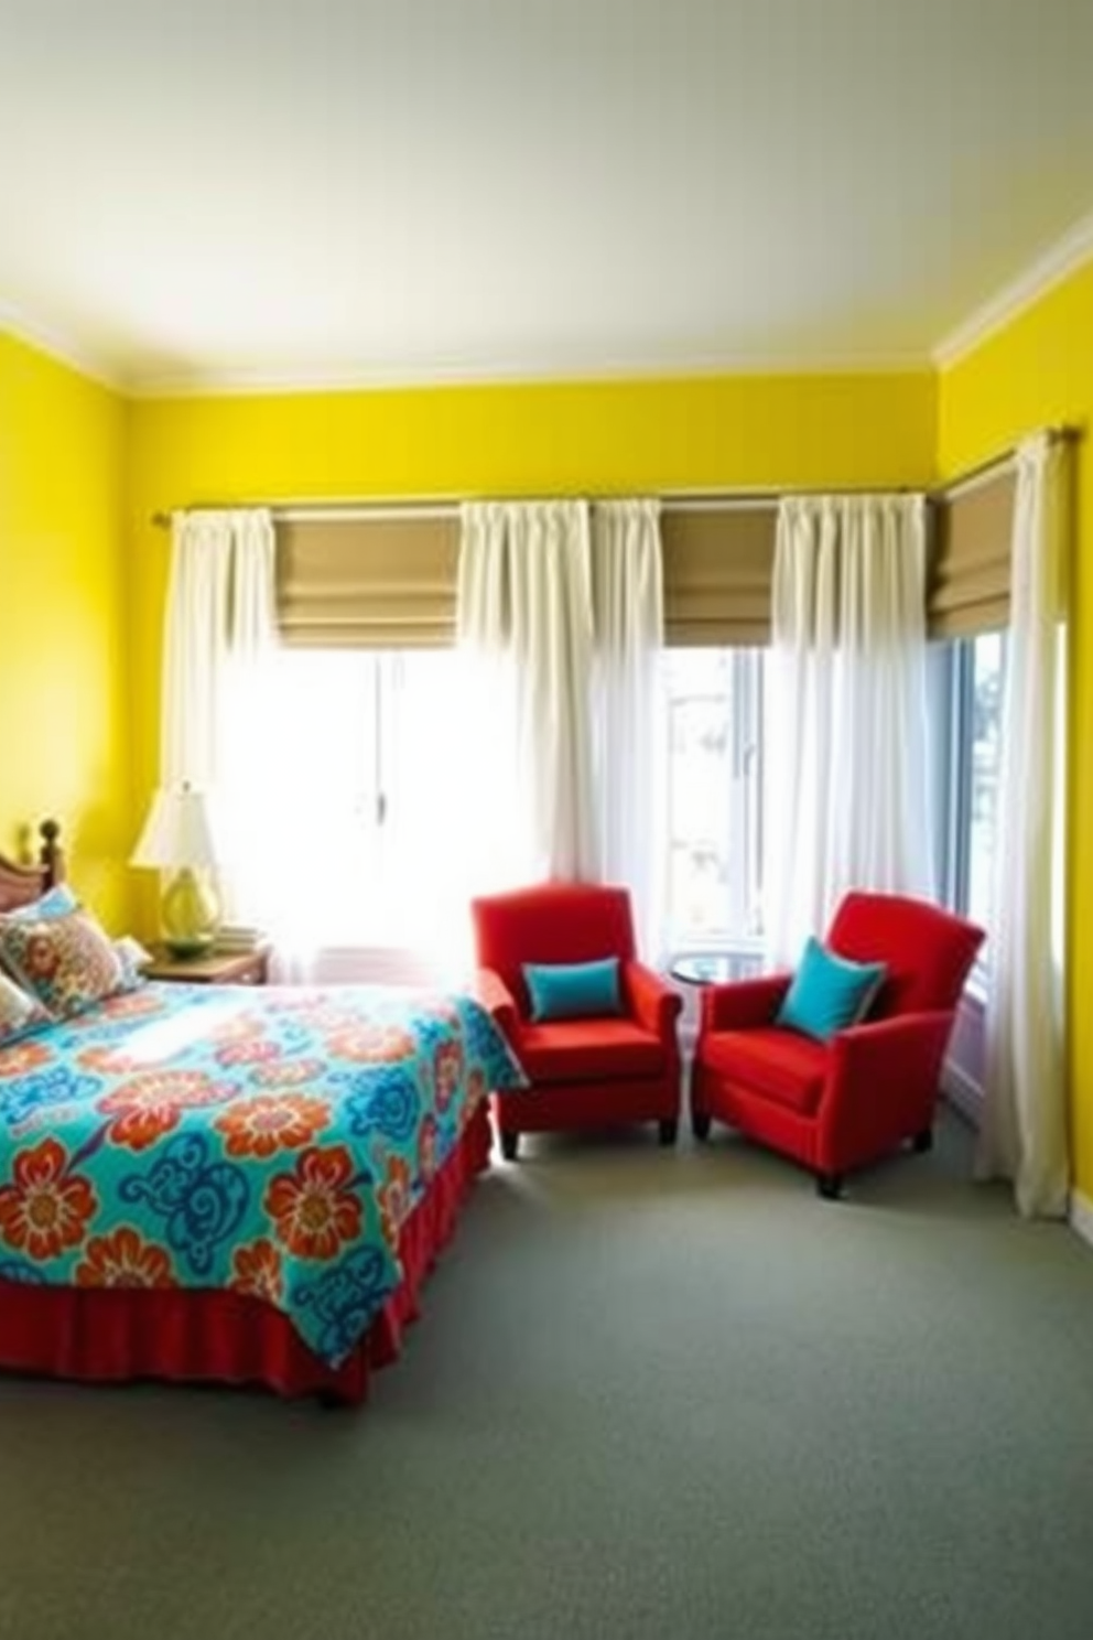
<path fill-rule="evenodd" d="M 772 617 L 765 923 L 793 964 L 847 889 L 932 892 L 924 497 L 787 497 Z"/>

